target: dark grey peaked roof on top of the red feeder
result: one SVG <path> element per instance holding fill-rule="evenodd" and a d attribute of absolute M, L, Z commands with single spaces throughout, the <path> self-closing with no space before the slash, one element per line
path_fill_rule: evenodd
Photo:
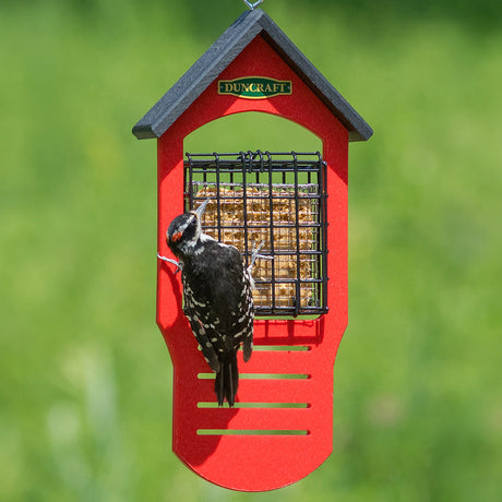
<path fill-rule="evenodd" d="M 160 138 L 259 34 L 347 128 L 350 141 L 371 138 L 370 125 L 261 9 L 242 13 L 134 125 L 133 134 L 139 140 Z"/>

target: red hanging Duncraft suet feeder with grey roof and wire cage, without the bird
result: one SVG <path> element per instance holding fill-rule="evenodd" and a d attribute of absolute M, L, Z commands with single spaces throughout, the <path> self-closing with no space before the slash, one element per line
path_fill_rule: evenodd
<path fill-rule="evenodd" d="M 272 113 L 308 129 L 322 152 L 183 153 L 183 140 L 232 113 Z M 216 40 L 135 124 L 157 139 L 159 255 L 169 223 L 210 200 L 203 229 L 253 271 L 254 350 L 238 352 L 236 406 L 218 407 L 182 312 L 180 274 L 158 260 L 157 324 L 174 364 L 172 450 L 222 487 L 290 485 L 332 452 L 333 364 L 347 325 L 347 153 L 371 128 L 262 10 Z M 260 146 L 260 145 L 258 145 Z M 172 256 L 174 258 L 174 256 Z"/>

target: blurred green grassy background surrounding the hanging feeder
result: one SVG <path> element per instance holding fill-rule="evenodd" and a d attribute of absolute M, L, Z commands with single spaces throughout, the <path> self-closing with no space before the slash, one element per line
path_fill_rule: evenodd
<path fill-rule="evenodd" d="M 375 131 L 350 146 L 333 455 L 246 494 L 170 451 L 156 146 L 131 128 L 243 3 L 3 0 L 0 501 L 502 500 L 500 1 L 263 7 Z M 201 142 L 244 135 L 285 142 L 256 118 Z"/>

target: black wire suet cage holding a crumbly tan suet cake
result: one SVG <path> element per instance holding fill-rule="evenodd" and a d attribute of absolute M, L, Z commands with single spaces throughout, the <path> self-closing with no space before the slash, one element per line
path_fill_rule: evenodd
<path fill-rule="evenodd" d="M 256 315 L 320 314 L 326 302 L 326 164 L 316 153 L 189 154 L 186 210 L 210 199 L 203 231 L 232 244 L 246 264 L 254 249 Z"/>

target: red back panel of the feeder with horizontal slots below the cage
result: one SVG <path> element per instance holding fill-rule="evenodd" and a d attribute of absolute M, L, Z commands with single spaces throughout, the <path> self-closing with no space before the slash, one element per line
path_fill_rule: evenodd
<path fill-rule="evenodd" d="M 219 77 L 248 75 L 290 80 L 292 95 L 259 100 L 218 95 L 216 80 L 158 140 L 158 251 L 169 255 L 166 230 L 171 219 L 183 212 L 183 139 L 201 125 L 231 113 L 263 111 L 287 118 L 323 141 L 327 163 L 330 311 L 309 321 L 255 321 L 255 347 L 308 349 L 254 350 L 247 363 L 239 355 L 242 379 L 236 408 L 200 407 L 200 403 L 215 402 L 214 380 L 198 376 L 210 373 L 210 369 L 181 311 L 180 277 L 164 262 L 158 264 L 157 323 L 175 368 L 175 453 L 214 483 L 262 491 L 301 479 L 332 451 L 333 363 L 347 324 L 348 132 L 261 36 Z M 276 379 L 263 378 L 264 374 L 308 378 Z M 253 375 L 262 378 L 247 378 Z M 251 403 L 306 407 L 239 407 Z M 201 431 L 217 432 L 201 435 Z"/>

